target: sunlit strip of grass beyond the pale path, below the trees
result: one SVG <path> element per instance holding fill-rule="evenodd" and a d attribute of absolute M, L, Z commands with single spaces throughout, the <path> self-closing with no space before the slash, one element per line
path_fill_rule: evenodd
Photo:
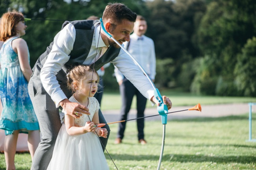
<path fill-rule="evenodd" d="M 256 98 L 252 97 L 225 97 L 225 96 L 196 96 L 185 92 L 176 92 L 173 90 L 160 90 L 161 95 L 169 97 L 173 106 L 193 106 L 200 103 L 201 105 L 215 105 L 226 103 L 256 103 Z M 151 102 L 147 102 L 147 107 L 152 107 Z M 155 106 L 154 106 L 155 107 Z M 115 110 L 121 108 L 121 96 L 119 92 L 104 92 L 101 109 Z M 132 102 L 132 108 L 136 108 L 136 98 Z"/>

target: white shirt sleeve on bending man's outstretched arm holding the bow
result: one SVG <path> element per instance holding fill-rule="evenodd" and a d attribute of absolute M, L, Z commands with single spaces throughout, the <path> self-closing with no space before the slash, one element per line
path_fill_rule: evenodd
<path fill-rule="evenodd" d="M 121 49 L 119 56 L 111 61 L 122 74 L 149 100 L 154 96 L 154 87 L 139 66 Z"/>

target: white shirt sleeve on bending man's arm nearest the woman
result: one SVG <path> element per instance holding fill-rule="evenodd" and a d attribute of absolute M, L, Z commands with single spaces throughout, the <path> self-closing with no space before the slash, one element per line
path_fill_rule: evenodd
<path fill-rule="evenodd" d="M 67 24 L 55 37 L 52 50 L 41 69 L 40 78 L 46 92 L 59 107 L 59 102 L 67 99 L 67 96 L 61 90 L 56 74 L 63 65 L 69 61 L 69 54 L 73 49 L 76 31 L 72 24 Z"/>

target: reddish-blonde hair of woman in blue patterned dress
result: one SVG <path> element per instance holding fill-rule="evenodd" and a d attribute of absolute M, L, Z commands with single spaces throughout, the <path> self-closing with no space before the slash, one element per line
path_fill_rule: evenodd
<path fill-rule="evenodd" d="M 22 13 L 17 11 L 11 11 L 4 13 L 0 19 L 0 41 L 6 41 L 11 36 L 17 34 L 16 25 L 24 21 Z"/>

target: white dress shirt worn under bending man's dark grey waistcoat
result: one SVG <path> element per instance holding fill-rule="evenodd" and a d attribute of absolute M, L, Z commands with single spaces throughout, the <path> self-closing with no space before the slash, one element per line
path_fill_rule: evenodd
<path fill-rule="evenodd" d="M 56 103 L 56 107 L 59 107 L 60 101 L 67 99 L 67 96 L 61 90 L 58 80 L 56 79 L 56 74 L 61 70 L 63 65 L 69 61 L 75 38 L 76 30 L 74 25 L 69 23 L 54 37 L 52 50 L 48 54 L 48 58 L 41 69 L 40 78 L 43 87 L 51 96 L 54 103 Z M 83 64 L 91 65 L 92 63 L 95 63 L 95 61 L 98 60 L 98 58 L 95 60 L 96 51 L 100 54 L 101 47 L 104 46 L 106 45 L 100 36 L 100 25 L 97 25 L 95 27 L 91 49 Z M 121 49 L 119 55 L 111 61 L 111 63 L 113 63 L 119 71 L 121 71 L 124 76 L 139 89 L 143 96 L 148 99 L 154 96 L 154 88 L 150 81 L 148 81 L 143 72 L 140 71 L 139 67 L 135 65 L 134 61 L 128 54 L 126 54 L 126 52 Z"/>

